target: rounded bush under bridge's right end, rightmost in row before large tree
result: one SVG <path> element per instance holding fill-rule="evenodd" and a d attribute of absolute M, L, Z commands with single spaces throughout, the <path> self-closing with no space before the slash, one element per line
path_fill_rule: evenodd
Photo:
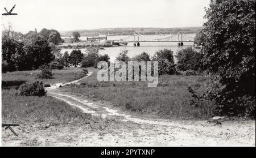
<path fill-rule="evenodd" d="M 203 69 L 203 54 L 196 52 L 191 46 L 179 50 L 175 57 L 177 58 L 177 69 L 181 71 Z"/>

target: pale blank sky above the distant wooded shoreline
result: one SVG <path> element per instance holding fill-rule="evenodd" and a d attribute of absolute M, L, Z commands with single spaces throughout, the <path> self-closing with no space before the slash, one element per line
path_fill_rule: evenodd
<path fill-rule="evenodd" d="M 117 27 L 200 27 L 209 0 L 0 0 L 1 23 L 27 33 Z M 2 27 L 3 28 L 3 27 Z"/>

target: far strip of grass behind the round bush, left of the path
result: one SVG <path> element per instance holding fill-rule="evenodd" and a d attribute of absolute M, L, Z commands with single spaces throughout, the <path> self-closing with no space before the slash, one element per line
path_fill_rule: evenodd
<path fill-rule="evenodd" d="M 14 71 L 2 74 L 2 87 L 20 86 L 20 84 L 37 80 L 36 77 L 40 70 L 32 71 Z M 52 70 L 53 79 L 38 79 L 44 84 L 55 84 L 71 82 L 72 80 L 80 79 L 85 76 L 82 69 L 77 67 L 69 67 L 63 70 Z"/>

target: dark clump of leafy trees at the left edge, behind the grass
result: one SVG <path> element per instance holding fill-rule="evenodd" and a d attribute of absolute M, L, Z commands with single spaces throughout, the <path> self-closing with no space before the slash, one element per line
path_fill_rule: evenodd
<path fill-rule="evenodd" d="M 38 69 L 54 59 L 51 47 L 42 36 L 22 41 L 11 37 L 2 39 L 2 58 L 8 71 Z"/>

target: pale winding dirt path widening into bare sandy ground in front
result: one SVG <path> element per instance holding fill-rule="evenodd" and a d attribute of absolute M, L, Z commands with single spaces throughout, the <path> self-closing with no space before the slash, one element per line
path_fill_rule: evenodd
<path fill-rule="evenodd" d="M 89 72 L 88 76 L 91 74 Z M 55 84 L 47 88 L 47 94 L 81 109 L 81 112 L 115 118 L 118 123 L 113 122 L 108 127 L 102 125 L 101 130 L 76 125 L 53 126 L 42 128 L 42 131 L 31 130 L 20 138 L 7 131 L 6 139 L 14 141 L 3 141 L 3 146 L 255 146 L 255 121 L 220 119 L 221 124 L 217 125 L 213 119 L 174 121 L 141 118 L 58 90 L 60 85 L 77 83 L 82 79 Z M 20 126 L 17 132 L 22 133 L 25 128 Z"/>

